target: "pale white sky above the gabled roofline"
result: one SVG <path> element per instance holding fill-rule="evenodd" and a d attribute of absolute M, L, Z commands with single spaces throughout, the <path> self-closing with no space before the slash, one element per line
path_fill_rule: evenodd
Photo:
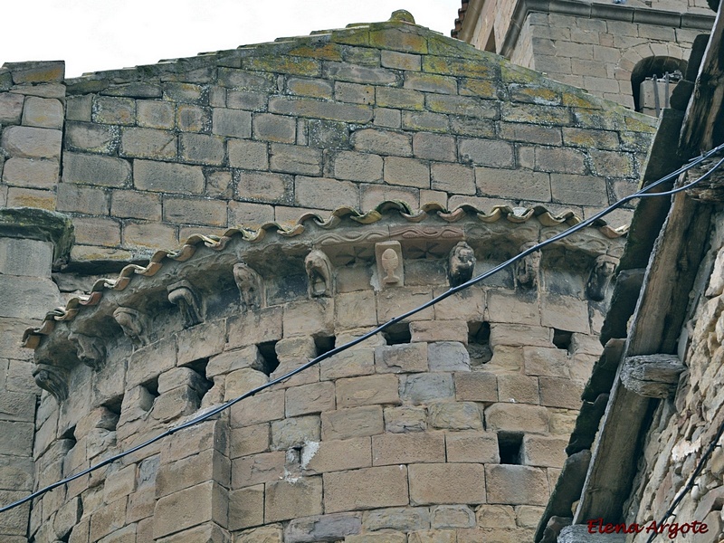
<path fill-rule="evenodd" d="M 6 5 L 5 5 L 6 4 Z M 406 9 L 449 36 L 460 0 L 25 0 L 4 3 L 0 64 L 65 61 L 66 77 L 386 21 Z"/>

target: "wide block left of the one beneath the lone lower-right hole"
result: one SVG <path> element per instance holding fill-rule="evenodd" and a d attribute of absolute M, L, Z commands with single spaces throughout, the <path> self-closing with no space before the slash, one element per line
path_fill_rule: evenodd
<path fill-rule="evenodd" d="M 485 503 L 485 472 L 477 463 L 414 464 L 410 500 L 415 505 Z"/>

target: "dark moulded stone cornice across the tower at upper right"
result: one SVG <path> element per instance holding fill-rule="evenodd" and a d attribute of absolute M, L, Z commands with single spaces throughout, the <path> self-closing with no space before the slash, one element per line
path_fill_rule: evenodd
<path fill-rule="evenodd" d="M 505 41 L 500 50 L 502 56 L 510 58 L 510 53 L 518 43 L 520 30 L 531 12 L 574 15 L 588 19 L 654 24 L 670 28 L 691 28 L 702 31 L 709 31 L 714 24 L 713 14 L 681 14 L 650 7 L 595 2 L 589 4 L 576 0 L 519 0 L 515 6 L 508 33 L 506 33 Z"/>

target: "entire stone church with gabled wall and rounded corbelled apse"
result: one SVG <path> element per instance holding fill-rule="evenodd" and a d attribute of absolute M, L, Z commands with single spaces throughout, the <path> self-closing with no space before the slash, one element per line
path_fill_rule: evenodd
<path fill-rule="evenodd" d="M 402 12 L 73 80 L 5 64 L 0 123 L 5 503 L 630 194 L 656 120 Z M 593 224 L 2 514 L 0 534 L 529 540 L 623 232 Z"/>

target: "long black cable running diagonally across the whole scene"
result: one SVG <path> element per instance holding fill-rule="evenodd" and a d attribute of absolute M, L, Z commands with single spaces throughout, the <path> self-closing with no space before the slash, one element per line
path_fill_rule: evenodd
<path fill-rule="evenodd" d="M 140 449 L 144 449 L 144 448 L 148 447 L 148 445 L 156 443 L 157 441 L 159 441 L 169 435 L 173 435 L 176 432 L 185 430 L 186 428 L 194 426 L 195 424 L 202 423 L 205 420 L 208 420 L 211 417 L 213 417 L 215 414 L 219 414 L 219 413 L 225 411 L 226 409 L 228 409 L 229 407 L 238 404 L 242 400 L 244 400 L 248 397 L 251 397 L 252 395 L 256 395 L 257 393 L 262 392 L 262 390 L 265 390 L 266 388 L 269 388 L 270 386 L 277 385 L 278 383 L 281 383 L 282 381 L 285 381 L 285 380 L 289 379 L 290 377 L 295 376 L 298 373 L 304 371 L 308 367 L 312 367 L 312 366 L 319 364 L 319 362 L 321 362 L 322 360 L 326 360 L 327 358 L 333 357 L 333 356 L 337 355 L 338 353 L 341 353 L 342 351 L 347 350 L 348 348 L 354 347 L 357 344 L 361 343 L 362 341 L 365 341 L 367 338 L 371 338 L 372 336 L 375 336 L 379 332 L 395 325 L 396 323 L 400 322 L 401 320 L 407 319 L 408 317 L 411 317 L 415 313 L 419 313 L 422 310 L 426 310 L 427 308 L 433 306 L 434 304 L 438 303 L 439 301 L 442 301 L 442 300 L 445 300 L 445 299 L 451 297 L 452 294 L 455 294 L 459 291 L 463 291 L 464 289 L 467 289 L 468 287 L 471 287 L 472 285 L 474 285 L 484 279 L 487 279 L 493 273 L 497 273 L 498 271 L 503 270 L 504 268 L 510 266 L 510 264 L 518 262 L 519 260 L 528 256 L 531 252 L 539 251 L 543 247 L 546 247 L 547 245 L 549 245 L 551 243 L 555 243 L 555 242 L 567 237 L 571 233 L 576 233 L 577 231 L 582 230 L 583 228 L 586 228 L 586 226 L 588 226 L 589 224 L 593 224 L 596 220 L 600 219 L 605 214 L 611 213 L 612 211 L 614 211 L 614 209 L 621 207 L 625 203 L 630 202 L 631 200 L 633 200 L 635 198 L 647 198 L 647 197 L 653 197 L 653 196 L 674 195 L 676 193 L 681 192 L 682 190 L 685 190 L 687 188 L 690 188 L 691 186 L 694 186 L 694 185 L 700 183 L 705 178 L 707 178 L 708 176 L 713 174 L 714 171 L 716 171 L 721 166 L 721 164 L 724 163 L 724 158 L 719 160 L 719 162 L 714 167 L 712 167 L 708 172 L 706 172 L 704 175 L 700 176 L 698 179 L 692 181 L 690 184 L 688 184 L 686 186 L 681 186 L 679 188 L 676 188 L 676 189 L 673 189 L 670 191 L 666 191 L 666 192 L 661 192 L 661 193 L 645 194 L 647 191 L 651 190 L 652 188 L 654 188 L 656 186 L 661 186 L 663 183 L 671 180 L 673 177 L 679 176 L 681 173 L 691 169 L 692 167 L 698 166 L 703 160 L 710 157 L 711 155 L 714 155 L 715 153 L 718 153 L 722 149 L 724 149 L 724 144 L 720 145 L 717 148 L 711 149 L 710 151 L 708 151 L 707 153 L 704 153 L 700 157 L 692 159 L 689 162 L 689 164 L 687 164 L 683 167 L 680 167 L 679 169 L 672 172 L 668 176 L 663 176 L 661 179 L 659 179 L 658 181 L 655 181 L 651 185 L 643 187 L 638 192 L 633 193 L 633 195 L 625 196 L 618 202 L 615 202 L 614 204 L 609 205 L 603 211 L 598 212 L 594 216 L 586 219 L 585 221 L 575 224 L 561 233 L 557 233 L 557 235 L 555 235 L 551 238 L 548 238 L 548 240 L 545 240 L 532 247 L 529 247 L 529 249 L 526 249 L 525 251 L 520 252 L 518 255 L 510 258 L 509 260 L 498 264 L 494 268 L 491 268 L 491 270 L 485 271 L 485 272 L 481 273 L 480 275 L 473 277 L 470 281 L 466 281 L 466 282 L 462 283 L 461 285 L 458 285 L 457 287 L 453 287 L 452 289 L 445 291 L 442 294 L 434 297 L 432 300 L 426 301 L 424 304 L 414 308 L 414 310 L 409 310 L 406 313 L 403 313 L 402 315 L 395 317 L 394 319 L 390 319 L 386 323 L 379 325 L 376 329 L 372 329 L 372 330 L 368 331 L 367 333 L 363 334 L 362 336 L 359 336 L 358 338 L 348 341 L 348 343 L 345 343 L 344 345 L 340 345 L 339 347 L 333 348 L 333 349 L 327 351 L 326 353 L 319 355 L 319 357 L 311 359 L 309 362 L 301 365 L 300 367 L 296 367 L 296 368 L 292 369 L 289 373 L 287 373 L 283 376 L 279 376 L 275 379 L 272 379 L 271 381 L 263 384 L 262 386 L 257 386 L 256 388 L 252 388 L 252 390 L 244 393 L 243 395 L 237 396 L 237 397 L 233 398 L 232 400 L 224 402 L 224 404 L 217 405 L 216 407 L 214 407 L 214 409 L 211 409 L 211 410 L 205 412 L 204 414 L 199 414 L 198 416 L 195 416 L 195 418 L 193 418 L 189 421 L 186 421 L 186 423 L 172 426 L 171 428 L 168 428 L 167 431 L 165 431 L 163 433 L 159 433 L 157 436 L 152 437 L 151 439 L 148 439 L 147 441 L 145 441 L 143 443 L 138 443 L 138 445 L 131 447 L 127 451 L 123 451 L 123 452 L 119 452 L 118 454 L 114 454 L 113 456 L 110 456 L 109 458 L 106 458 L 105 460 L 103 460 L 95 465 L 92 465 L 89 468 L 86 468 L 82 472 L 75 473 L 74 475 L 70 475 L 70 476 L 66 477 L 65 479 L 62 479 L 62 481 L 53 482 L 52 484 L 49 484 L 48 486 L 46 486 L 38 491 L 34 491 L 32 494 L 25 496 L 21 500 L 16 500 L 13 503 L 10 503 L 10 504 L 6 505 L 5 507 L 0 508 L 0 513 L 4 513 L 7 510 L 14 509 L 15 507 L 18 507 L 30 500 L 34 500 L 35 498 L 43 496 L 43 494 L 45 494 L 46 492 L 52 491 L 53 489 L 56 489 L 59 486 L 66 484 L 68 482 L 75 481 L 76 479 L 81 478 L 83 475 L 88 475 L 91 472 L 95 472 L 96 470 L 99 470 L 103 466 L 107 466 L 110 463 L 116 462 L 116 461 L 120 460 L 121 458 L 128 456 L 129 454 L 131 454 L 133 452 L 139 451 Z"/>

